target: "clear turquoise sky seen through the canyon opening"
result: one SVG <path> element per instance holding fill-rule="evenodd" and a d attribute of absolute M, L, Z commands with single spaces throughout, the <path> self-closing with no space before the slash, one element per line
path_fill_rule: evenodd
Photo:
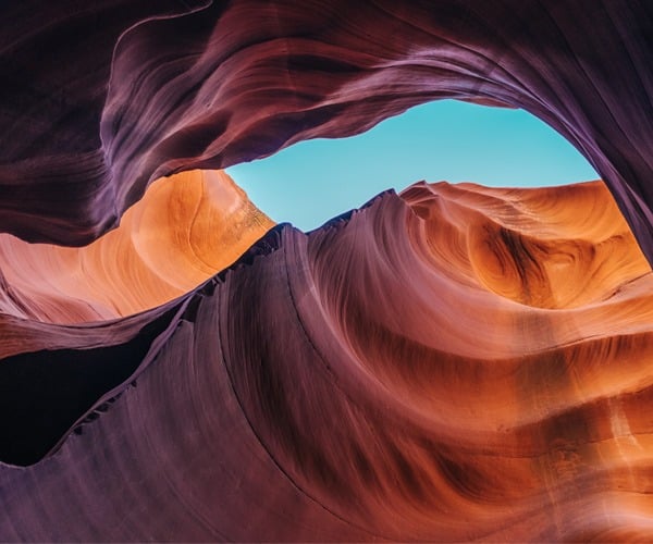
<path fill-rule="evenodd" d="M 599 177 L 530 113 L 456 100 L 418 106 L 350 138 L 300 141 L 227 172 L 274 221 L 304 231 L 420 180 L 538 187 Z"/>

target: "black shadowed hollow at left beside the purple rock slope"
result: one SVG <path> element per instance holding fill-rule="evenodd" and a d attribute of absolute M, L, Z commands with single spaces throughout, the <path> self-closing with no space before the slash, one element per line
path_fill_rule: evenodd
<path fill-rule="evenodd" d="M 134 373 L 176 309 L 146 324 L 124 344 L 42 350 L 1 360 L 0 460 L 28 466 L 46 456 L 102 395 Z M 95 417 L 94 412 L 87 419 Z"/>

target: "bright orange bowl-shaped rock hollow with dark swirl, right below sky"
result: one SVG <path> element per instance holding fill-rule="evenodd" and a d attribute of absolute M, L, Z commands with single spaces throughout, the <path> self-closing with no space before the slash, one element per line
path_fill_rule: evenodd
<path fill-rule="evenodd" d="M 601 181 L 533 190 L 422 183 L 402 197 L 428 220 L 439 267 L 523 305 L 600 302 L 651 270 Z"/>

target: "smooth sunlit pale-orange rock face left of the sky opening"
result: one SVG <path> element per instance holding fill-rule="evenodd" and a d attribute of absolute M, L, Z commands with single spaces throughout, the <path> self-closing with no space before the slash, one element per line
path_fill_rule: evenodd
<path fill-rule="evenodd" d="M 0 234 L 0 312 L 82 323 L 153 308 L 227 268 L 273 224 L 226 173 L 175 174 L 89 246 Z"/>

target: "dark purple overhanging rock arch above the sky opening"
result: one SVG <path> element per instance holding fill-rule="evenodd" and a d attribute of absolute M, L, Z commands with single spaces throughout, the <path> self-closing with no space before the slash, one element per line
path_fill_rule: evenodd
<path fill-rule="evenodd" d="M 153 180 L 433 99 L 563 134 L 653 259 L 646 0 L 4 2 L 0 228 L 87 244 Z M 392 40 L 387 39 L 392 36 Z"/>

